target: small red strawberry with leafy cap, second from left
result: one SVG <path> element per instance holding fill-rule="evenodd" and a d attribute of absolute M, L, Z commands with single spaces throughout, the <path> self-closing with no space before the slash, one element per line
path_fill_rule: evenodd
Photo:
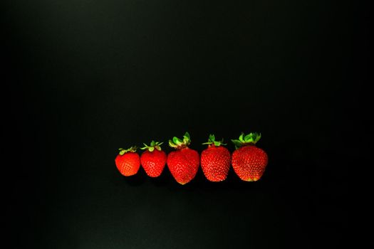
<path fill-rule="evenodd" d="M 165 168 L 166 154 L 161 150 L 161 144 L 162 143 L 152 140 L 150 146 L 144 144 L 145 147 L 140 148 L 147 149 L 140 156 L 140 163 L 142 164 L 145 173 L 150 177 L 160 176 L 162 170 Z"/>

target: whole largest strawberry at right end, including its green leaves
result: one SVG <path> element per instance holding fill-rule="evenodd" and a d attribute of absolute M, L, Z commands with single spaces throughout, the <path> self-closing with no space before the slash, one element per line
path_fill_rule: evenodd
<path fill-rule="evenodd" d="M 243 138 L 241 133 L 239 140 L 232 140 L 237 150 L 232 153 L 232 167 L 235 173 L 243 181 L 257 181 L 264 174 L 268 164 L 268 156 L 263 149 L 256 147 L 256 142 L 261 134 L 249 133 Z"/>

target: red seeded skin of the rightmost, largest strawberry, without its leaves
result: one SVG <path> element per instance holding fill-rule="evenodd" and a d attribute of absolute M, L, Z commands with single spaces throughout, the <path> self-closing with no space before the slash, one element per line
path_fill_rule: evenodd
<path fill-rule="evenodd" d="M 264 174 L 268 156 L 255 145 L 240 147 L 232 153 L 232 167 L 243 181 L 257 181 Z"/>

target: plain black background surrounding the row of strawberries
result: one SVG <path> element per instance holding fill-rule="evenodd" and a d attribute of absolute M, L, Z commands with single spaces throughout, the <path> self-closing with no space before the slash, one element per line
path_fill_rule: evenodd
<path fill-rule="evenodd" d="M 344 147 L 353 124 L 364 127 L 349 114 L 367 72 L 361 8 L 342 1 L 1 5 L 13 248 L 343 244 L 347 164 L 358 152 Z M 264 176 L 247 183 L 230 171 L 227 181 L 210 183 L 199 169 L 180 186 L 168 169 L 158 179 L 115 169 L 118 147 L 186 131 L 200 152 L 209 133 L 233 151 L 229 139 L 261 132 Z"/>

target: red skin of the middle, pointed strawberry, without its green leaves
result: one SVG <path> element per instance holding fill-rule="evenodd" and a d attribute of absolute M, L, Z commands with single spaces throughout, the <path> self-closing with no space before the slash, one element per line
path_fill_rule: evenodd
<path fill-rule="evenodd" d="M 167 167 L 179 184 L 187 184 L 194 179 L 199 169 L 199 153 L 188 147 L 170 152 L 167 155 Z"/>

